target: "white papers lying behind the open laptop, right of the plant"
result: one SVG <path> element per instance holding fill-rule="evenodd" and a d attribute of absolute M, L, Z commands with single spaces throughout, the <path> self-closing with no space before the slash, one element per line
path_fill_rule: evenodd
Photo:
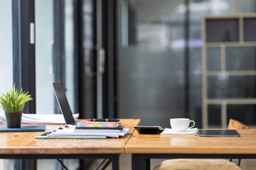
<path fill-rule="evenodd" d="M 73 114 L 75 121 L 78 120 L 79 113 Z M 62 114 L 27 114 L 23 113 L 21 123 L 53 123 L 65 124 Z"/>

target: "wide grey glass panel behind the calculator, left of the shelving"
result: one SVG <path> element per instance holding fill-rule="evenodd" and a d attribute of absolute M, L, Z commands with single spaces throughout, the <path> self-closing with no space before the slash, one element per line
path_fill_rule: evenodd
<path fill-rule="evenodd" d="M 119 116 L 170 127 L 184 116 L 183 1 L 122 1 Z M 166 121 L 168 120 L 168 121 Z"/>

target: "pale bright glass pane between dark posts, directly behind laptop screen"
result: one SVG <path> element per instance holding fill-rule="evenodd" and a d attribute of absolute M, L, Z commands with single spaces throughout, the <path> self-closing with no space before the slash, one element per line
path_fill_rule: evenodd
<path fill-rule="evenodd" d="M 36 113 L 53 114 L 53 0 L 35 1 L 35 20 Z"/>

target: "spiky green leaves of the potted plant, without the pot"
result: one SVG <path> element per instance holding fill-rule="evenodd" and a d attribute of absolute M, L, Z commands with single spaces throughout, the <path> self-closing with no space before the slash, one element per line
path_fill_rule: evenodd
<path fill-rule="evenodd" d="M 15 84 L 12 89 L 1 94 L 0 103 L 5 113 L 23 112 L 26 102 L 32 101 L 31 95 L 21 89 L 16 89 Z"/>

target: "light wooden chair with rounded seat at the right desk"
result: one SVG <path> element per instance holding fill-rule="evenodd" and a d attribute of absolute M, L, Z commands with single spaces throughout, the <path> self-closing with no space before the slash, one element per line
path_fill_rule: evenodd
<path fill-rule="evenodd" d="M 228 129 L 249 129 L 249 127 L 238 120 L 230 119 Z M 240 159 L 238 164 L 230 161 L 225 159 L 169 159 L 154 166 L 153 170 L 240 170 Z"/>

